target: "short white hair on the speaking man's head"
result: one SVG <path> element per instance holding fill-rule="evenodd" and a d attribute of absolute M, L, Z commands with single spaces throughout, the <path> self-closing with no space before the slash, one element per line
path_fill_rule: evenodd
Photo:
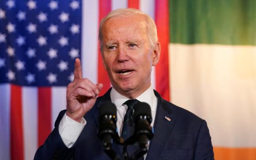
<path fill-rule="evenodd" d="M 143 15 L 145 22 L 147 23 L 147 33 L 148 33 L 148 38 L 149 38 L 149 44 L 151 47 L 155 45 L 155 42 L 158 41 L 157 38 L 157 31 L 156 31 L 156 26 L 155 26 L 155 21 L 147 14 L 145 14 L 142 11 L 139 11 L 137 9 L 133 8 L 120 8 L 114 11 L 111 11 L 105 16 L 101 22 L 100 22 L 100 28 L 99 28 L 99 40 L 101 42 L 101 51 L 102 51 L 102 40 L 103 40 L 103 33 L 102 33 L 102 27 L 104 24 L 107 22 L 107 20 L 114 18 L 114 17 L 127 17 L 131 15 Z"/>

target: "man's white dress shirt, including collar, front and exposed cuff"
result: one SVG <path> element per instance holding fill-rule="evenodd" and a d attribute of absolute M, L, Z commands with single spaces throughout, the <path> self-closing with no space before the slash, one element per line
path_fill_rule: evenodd
<path fill-rule="evenodd" d="M 119 94 L 114 88 L 112 88 L 110 92 L 110 98 L 112 103 L 114 103 L 117 106 L 117 130 L 118 130 L 118 134 L 120 135 L 123 128 L 123 118 L 128 108 L 126 105 L 123 105 L 123 103 L 129 100 L 129 98 Z M 155 96 L 152 86 L 150 85 L 150 87 L 146 91 L 144 91 L 141 95 L 136 97 L 136 99 L 141 102 L 146 102 L 149 104 L 151 108 L 151 114 L 152 114 L 151 126 L 153 126 L 155 122 L 157 98 Z M 84 118 L 82 119 L 81 123 L 78 123 L 72 118 L 68 117 L 66 114 L 64 114 L 64 117 L 62 117 L 59 123 L 59 134 L 64 144 L 68 148 L 71 148 L 75 144 L 75 141 L 78 139 L 80 133 L 85 127 L 85 124 L 86 124 L 86 120 Z M 144 159 L 145 157 L 146 155 L 144 155 Z"/>

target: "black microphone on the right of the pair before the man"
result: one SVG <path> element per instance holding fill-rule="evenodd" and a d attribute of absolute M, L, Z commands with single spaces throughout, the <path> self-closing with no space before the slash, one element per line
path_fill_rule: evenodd
<path fill-rule="evenodd" d="M 139 140 L 140 148 L 147 148 L 148 141 L 153 138 L 153 129 L 150 126 L 152 122 L 151 109 L 149 104 L 138 102 L 134 106 L 134 122 L 136 139 Z"/>

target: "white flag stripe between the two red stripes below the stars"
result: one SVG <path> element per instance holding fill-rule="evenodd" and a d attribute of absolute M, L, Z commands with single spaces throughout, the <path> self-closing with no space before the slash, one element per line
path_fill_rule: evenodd
<path fill-rule="evenodd" d="M 22 87 L 22 117 L 25 160 L 32 160 L 37 151 L 37 87 Z M 47 117 L 46 117 L 47 118 Z"/>

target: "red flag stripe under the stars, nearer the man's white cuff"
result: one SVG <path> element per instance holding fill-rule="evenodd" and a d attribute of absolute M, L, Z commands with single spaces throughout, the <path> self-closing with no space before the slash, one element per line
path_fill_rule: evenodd
<path fill-rule="evenodd" d="M 38 87 L 38 146 L 42 145 L 51 133 L 51 88 Z"/>

